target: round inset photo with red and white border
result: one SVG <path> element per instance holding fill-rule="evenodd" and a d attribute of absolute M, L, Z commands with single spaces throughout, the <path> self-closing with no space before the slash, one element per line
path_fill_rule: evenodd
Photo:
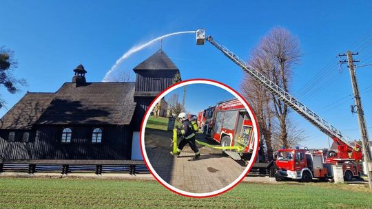
<path fill-rule="evenodd" d="M 141 151 L 152 175 L 169 190 L 211 197 L 236 186 L 253 166 L 258 126 L 234 89 L 214 80 L 185 80 L 148 107 Z"/>

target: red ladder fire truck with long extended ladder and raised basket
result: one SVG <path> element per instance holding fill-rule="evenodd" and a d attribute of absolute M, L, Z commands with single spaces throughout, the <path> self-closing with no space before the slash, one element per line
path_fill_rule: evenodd
<path fill-rule="evenodd" d="M 335 143 L 335 149 L 327 151 L 312 152 L 307 149 L 293 148 L 280 149 L 276 155 L 276 177 L 302 179 L 310 181 L 313 177 L 330 178 L 333 177 L 333 165 L 342 166 L 344 179 L 350 180 L 352 177 L 358 177 L 362 173 L 360 161 L 362 160 L 362 149 L 356 143 L 349 143 L 347 137 L 335 128 L 332 124 L 321 118 L 309 107 L 297 100 L 294 96 L 273 83 L 269 78 L 258 72 L 254 67 L 248 65 L 242 58 L 231 52 L 227 47 L 217 43 L 211 36 L 205 36 L 205 30 L 196 31 L 196 44 L 203 45 L 205 41 L 214 45 L 227 58 L 236 63 L 244 72 L 254 78 L 262 87 L 282 102 L 291 107 L 293 111 L 301 115 L 316 126 L 324 134 L 332 138 Z M 212 132 L 212 135 L 214 133 Z M 213 135 L 214 136 L 214 135 Z M 218 136 L 218 135 L 216 135 Z"/>

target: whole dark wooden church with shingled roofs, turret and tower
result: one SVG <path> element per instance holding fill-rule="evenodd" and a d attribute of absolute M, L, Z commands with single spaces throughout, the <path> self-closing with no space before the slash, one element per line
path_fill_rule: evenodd
<path fill-rule="evenodd" d="M 25 94 L 0 120 L 0 164 L 142 159 L 143 115 L 179 71 L 162 50 L 133 70 L 136 82 L 90 83 L 79 65 L 56 92 Z"/>

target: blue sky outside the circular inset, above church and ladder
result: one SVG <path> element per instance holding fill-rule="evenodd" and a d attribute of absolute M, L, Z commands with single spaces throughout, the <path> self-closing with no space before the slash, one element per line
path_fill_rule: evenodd
<path fill-rule="evenodd" d="M 56 91 L 71 80 L 72 69 L 80 62 L 88 81 L 101 81 L 132 46 L 171 32 L 206 28 L 207 34 L 247 59 L 259 39 L 280 25 L 298 36 L 303 52 L 300 65 L 293 69 L 291 93 L 350 137 L 360 137 L 358 118 L 350 112 L 353 100 L 348 96 L 352 91 L 347 67 L 339 70 L 335 56 L 353 50 L 360 52 L 355 56 L 360 65 L 372 63 L 371 1 L 174 2 L 1 1 L 0 45 L 14 50 L 19 62 L 14 75 L 28 80 L 28 86 L 16 95 L 0 88 L 1 97 L 10 108 L 25 91 Z M 131 71 L 158 47 L 154 44 L 134 54 L 120 69 Z M 238 90 L 241 70 L 210 44 L 197 46 L 194 34 L 165 39 L 163 50 L 184 80 L 209 78 Z M 313 91 L 299 91 L 320 72 L 322 80 L 309 85 Z M 357 72 L 371 127 L 372 88 L 367 88 L 372 85 L 372 66 Z M 1 109 L 0 115 L 6 111 Z M 328 146 L 323 133 L 296 113 L 291 115 L 309 135 L 303 145 Z"/>

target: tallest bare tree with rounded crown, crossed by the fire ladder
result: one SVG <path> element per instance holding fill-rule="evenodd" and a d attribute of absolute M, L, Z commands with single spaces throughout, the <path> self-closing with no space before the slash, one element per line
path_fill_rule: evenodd
<path fill-rule="evenodd" d="M 300 43 L 296 36 L 293 36 L 285 28 L 273 28 L 260 41 L 260 50 L 265 54 L 269 61 L 267 74 L 269 78 L 284 91 L 289 92 L 289 84 L 293 75 L 293 67 L 296 67 L 300 61 L 301 50 Z M 278 118 L 280 127 L 279 140 L 283 146 L 289 147 L 287 115 L 289 109 L 287 104 L 282 102 L 274 94 L 271 95 L 273 100 L 273 109 Z"/>

